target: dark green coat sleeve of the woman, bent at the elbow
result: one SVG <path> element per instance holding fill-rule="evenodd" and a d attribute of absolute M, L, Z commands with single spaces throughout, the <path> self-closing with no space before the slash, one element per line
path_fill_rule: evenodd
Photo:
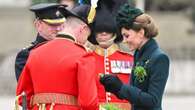
<path fill-rule="evenodd" d="M 160 55 L 151 66 L 148 91 L 144 92 L 133 85 L 123 85 L 120 98 L 129 100 L 138 106 L 154 107 L 161 103 L 169 73 L 169 59 Z"/>

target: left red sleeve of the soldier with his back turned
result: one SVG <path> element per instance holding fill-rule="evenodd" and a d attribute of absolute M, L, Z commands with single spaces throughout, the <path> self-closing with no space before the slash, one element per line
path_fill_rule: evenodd
<path fill-rule="evenodd" d="M 27 64 L 24 66 L 24 69 L 18 80 L 16 95 L 18 96 L 22 92 L 25 92 L 27 95 L 27 107 L 30 109 L 30 99 L 34 94 L 34 91 L 33 91 L 33 83 L 30 75 L 30 70 L 29 70 L 29 61 L 30 59 L 27 61 Z M 19 99 L 19 104 L 22 105 L 21 98 Z"/>

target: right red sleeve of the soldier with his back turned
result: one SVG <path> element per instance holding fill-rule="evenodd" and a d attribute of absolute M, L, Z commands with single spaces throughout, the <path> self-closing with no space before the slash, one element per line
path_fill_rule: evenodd
<path fill-rule="evenodd" d="M 95 59 L 86 55 L 78 62 L 78 102 L 82 110 L 98 110 Z"/>

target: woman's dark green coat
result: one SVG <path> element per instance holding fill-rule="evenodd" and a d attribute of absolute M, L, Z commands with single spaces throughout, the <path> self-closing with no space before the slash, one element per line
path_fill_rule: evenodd
<path fill-rule="evenodd" d="M 119 97 L 133 104 L 133 110 L 162 110 L 162 96 L 169 74 L 169 58 L 150 39 L 140 50 L 136 50 L 132 85 L 123 85 Z M 135 75 L 135 68 L 141 66 L 147 76 L 142 81 Z"/>

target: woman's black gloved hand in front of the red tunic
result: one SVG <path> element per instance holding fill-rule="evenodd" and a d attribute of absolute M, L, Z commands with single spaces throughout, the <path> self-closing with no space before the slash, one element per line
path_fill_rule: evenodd
<path fill-rule="evenodd" d="M 104 74 L 100 76 L 100 82 L 105 90 L 114 94 L 120 91 L 123 83 L 116 75 Z"/>

